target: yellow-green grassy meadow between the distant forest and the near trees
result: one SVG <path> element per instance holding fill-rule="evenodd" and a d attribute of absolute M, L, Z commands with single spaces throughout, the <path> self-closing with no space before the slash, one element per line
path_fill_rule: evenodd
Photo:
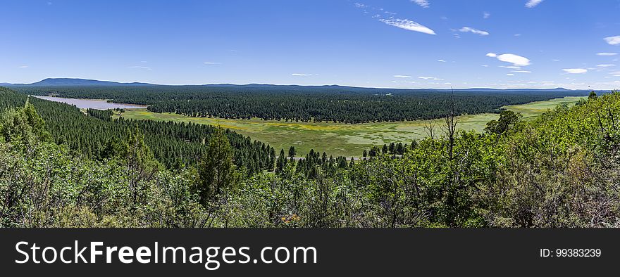
<path fill-rule="evenodd" d="M 576 103 L 581 97 L 557 98 L 550 101 L 533 102 L 524 105 L 510 105 L 504 108 L 521 112 L 523 118 L 531 118 L 554 108 L 561 103 Z M 115 115 L 118 117 L 118 115 Z M 305 155 L 311 148 L 331 155 L 359 157 L 364 149 L 383 146 L 384 143 L 411 143 L 427 136 L 425 124 L 433 123 L 438 132 L 442 120 L 416 120 L 408 122 L 379 122 L 364 124 L 343 124 L 326 122 L 285 122 L 275 120 L 227 120 L 222 118 L 187 117 L 173 113 L 148 112 L 145 109 L 125 110 L 122 116 L 134 120 L 164 120 L 173 122 L 194 122 L 211 124 L 237 131 L 252 139 L 269 143 L 276 152 L 290 146 L 298 155 Z M 459 129 L 483 131 L 496 114 L 462 115 L 458 118 Z"/>

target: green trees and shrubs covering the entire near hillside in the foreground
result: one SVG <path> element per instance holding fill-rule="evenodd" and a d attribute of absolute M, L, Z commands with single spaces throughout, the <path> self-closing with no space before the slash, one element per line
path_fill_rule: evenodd
<path fill-rule="evenodd" d="M 503 111 L 483 133 L 454 114 L 367 160 L 296 160 L 219 128 L 0 89 L 0 226 L 620 226 L 620 93 L 528 122 Z"/>

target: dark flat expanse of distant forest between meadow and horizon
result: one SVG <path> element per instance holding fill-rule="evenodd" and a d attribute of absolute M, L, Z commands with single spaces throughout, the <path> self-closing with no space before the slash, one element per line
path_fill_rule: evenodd
<path fill-rule="evenodd" d="M 342 86 L 15 86 L 25 94 L 111 99 L 148 105 L 153 112 L 192 117 L 222 117 L 316 122 L 386 122 L 428 120 L 500 112 L 503 105 L 584 96 L 582 91 L 423 91 Z"/>

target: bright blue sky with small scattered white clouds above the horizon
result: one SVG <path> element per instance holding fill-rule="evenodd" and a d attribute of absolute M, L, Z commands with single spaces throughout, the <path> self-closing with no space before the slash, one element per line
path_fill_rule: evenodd
<path fill-rule="evenodd" d="M 0 82 L 620 88 L 619 0 L 0 6 Z"/>

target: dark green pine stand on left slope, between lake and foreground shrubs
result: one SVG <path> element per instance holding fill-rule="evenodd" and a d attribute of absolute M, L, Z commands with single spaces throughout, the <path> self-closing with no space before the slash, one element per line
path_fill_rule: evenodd
<path fill-rule="evenodd" d="M 27 96 L 0 88 L 0 109 L 23 106 Z M 132 131 L 144 134 L 144 141 L 159 162 L 168 168 L 195 165 L 206 155 L 206 144 L 217 128 L 194 123 L 157 122 L 152 120 L 112 120 L 111 110 L 88 109 L 87 115 L 64 103 L 30 98 L 54 142 L 66 145 L 89 158 L 101 160 L 110 155 L 115 143 L 127 139 Z M 273 170 L 275 150 L 233 131 L 225 135 L 233 147 L 237 167 L 247 169 L 247 175 Z"/>

